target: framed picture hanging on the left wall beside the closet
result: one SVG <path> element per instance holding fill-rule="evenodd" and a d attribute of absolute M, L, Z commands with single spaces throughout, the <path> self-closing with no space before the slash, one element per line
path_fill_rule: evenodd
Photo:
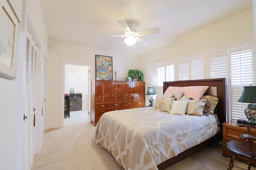
<path fill-rule="evenodd" d="M 9 0 L 0 2 L 0 77 L 16 78 L 16 59 L 20 20 Z"/>

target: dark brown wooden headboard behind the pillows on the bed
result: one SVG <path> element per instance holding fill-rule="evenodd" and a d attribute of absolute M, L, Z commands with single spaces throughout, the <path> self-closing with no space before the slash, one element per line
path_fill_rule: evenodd
<path fill-rule="evenodd" d="M 209 89 L 205 92 L 205 95 L 207 94 L 219 98 L 219 102 L 217 104 L 217 115 L 220 123 L 222 124 L 228 120 L 226 107 L 226 78 L 164 82 L 164 92 L 169 86 L 209 86 Z"/>

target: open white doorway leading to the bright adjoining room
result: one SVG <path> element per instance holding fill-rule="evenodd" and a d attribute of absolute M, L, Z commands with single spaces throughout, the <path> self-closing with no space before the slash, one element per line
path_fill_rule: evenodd
<path fill-rule="evenodd" d="M 73 95 L 72 98 L 78 98 L 70 99 L 72 107 L 70 107 L 69 116 L 66 113 L 64 115 L 61 106 L 62 126 L 87 123 L 90 120 L 90 68 L 91 64 L 88 63 L 62 61 L 61 103 L 63 101 L 64 104 L 64 95 Z"/>

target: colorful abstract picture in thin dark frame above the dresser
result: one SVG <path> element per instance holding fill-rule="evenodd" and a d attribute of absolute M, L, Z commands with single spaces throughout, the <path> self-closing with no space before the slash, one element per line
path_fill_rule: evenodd
<path fill-rule="evenodd" d="M 96 80 L 113 80 L 112 57 L 96 56 Z"/>

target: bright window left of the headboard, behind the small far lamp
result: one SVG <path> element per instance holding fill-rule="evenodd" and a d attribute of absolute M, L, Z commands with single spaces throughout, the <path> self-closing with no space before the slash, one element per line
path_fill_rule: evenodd
<path fill-rule="evenodd" d="M 163 95 L 163 82 L 165 81 L 174 81 L 174 64 L 158 66 L 156 94 Z"/>

